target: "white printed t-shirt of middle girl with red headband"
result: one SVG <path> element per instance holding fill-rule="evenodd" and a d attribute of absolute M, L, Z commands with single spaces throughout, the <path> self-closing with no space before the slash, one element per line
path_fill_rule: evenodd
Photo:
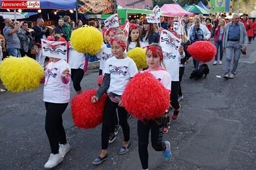
<path fill-rule="evenodd" d="M 107 59 L 105 74 L 110 74 L 110 84 L 107 93 L 115 93 L 122 95 L 126 84 L 138 73 L 137 65 L 130 57 L 124 59 L 116 59 L 111 57 Z"/>

